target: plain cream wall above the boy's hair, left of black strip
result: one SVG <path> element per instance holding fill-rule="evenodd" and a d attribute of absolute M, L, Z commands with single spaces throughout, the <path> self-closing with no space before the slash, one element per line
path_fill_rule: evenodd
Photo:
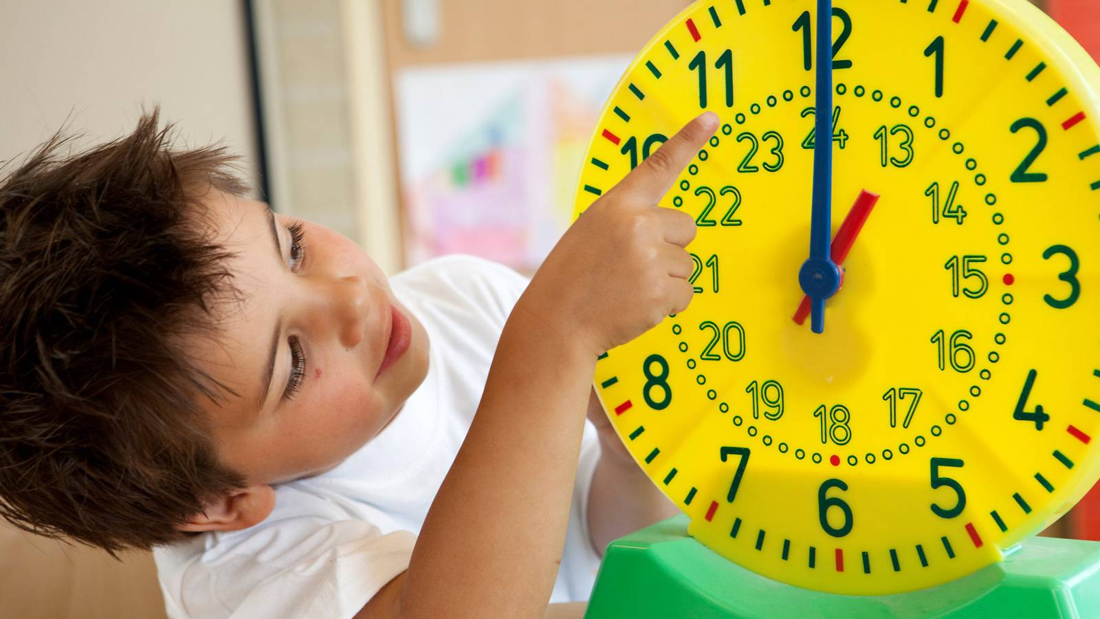
<path fill-rule="evenodd" d="M 0 2 L 0 161 L 68 118 L 90 141 L 161 104 L 191 145 L 226 140 L 255 186 L 256 140 L 242 3 Z"/>

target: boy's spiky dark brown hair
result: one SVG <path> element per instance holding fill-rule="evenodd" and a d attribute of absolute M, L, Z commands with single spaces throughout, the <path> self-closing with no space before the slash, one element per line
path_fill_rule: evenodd
<path fill-rule="evenodd" d="M 173 139 L 154 108 L 76 154 L 58 132 L 0 180 L 0 515 L 112 555 L 244 486 L 199 405 L 231 391 L 182 343 L 232 292 L 201 198 L 246 189 L 224 148 Z"/>

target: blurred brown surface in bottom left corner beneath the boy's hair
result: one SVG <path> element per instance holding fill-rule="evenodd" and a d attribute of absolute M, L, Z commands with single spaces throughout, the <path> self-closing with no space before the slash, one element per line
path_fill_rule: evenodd
<path fill-rule="evenodd" d="M 0 521 L 0 617 L 162 619 L 164 601 L 150 553 L 122 555 L 69 546 Z"/>

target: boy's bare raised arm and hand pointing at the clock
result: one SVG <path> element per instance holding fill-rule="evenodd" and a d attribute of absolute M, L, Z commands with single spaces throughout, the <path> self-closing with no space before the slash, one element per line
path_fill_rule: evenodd
<path fill-rule="evenodd" d="M 658 200 L 717 123 L 710 112 L 690 122 L 554 247 L 504 327 L 477 413 L 408 569 L 362 616 L 543 616 L 596 356 L 691 301 L 684 247 L 695 224 Z"/>

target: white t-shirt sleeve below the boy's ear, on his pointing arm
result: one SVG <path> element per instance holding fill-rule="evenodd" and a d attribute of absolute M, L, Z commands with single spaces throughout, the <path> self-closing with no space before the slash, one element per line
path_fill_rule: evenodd
<path fill-rule="evenodd" d="M 285 518 L 157 549 L 173 619 L 351 618 L 408 568 L 416 536 L 364 520 Z"/>

